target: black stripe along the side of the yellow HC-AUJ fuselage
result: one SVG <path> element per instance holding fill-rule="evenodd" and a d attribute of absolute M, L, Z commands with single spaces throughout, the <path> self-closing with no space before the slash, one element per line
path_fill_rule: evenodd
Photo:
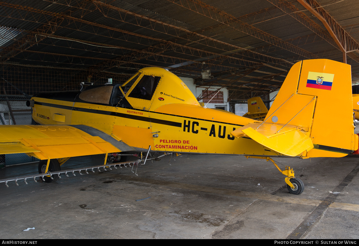
<path fill-rule="evenodd" d="M 48 102 L 36 102 L 35 101 L 35 104 L 42 105 L 42 106 L 47 106 L 47 107 L 55 107 L 55 108 L 73 110 L 73 111 L 88 112 L 88 113 L 93 113 L 93 114 L 118 116 L 118 117 L 123 117 L 123 118 L 127 118 L 127 119 L 132 119 L 132 120 L 141 120 L 141 121 L 146 121 L 146 122 L 153 122 L 153 123 L 162 124 L 162 125 L 182 127 L 182 123 L 180 123 L 180 122 L 168 121 L 168 120 L 160 120 L 160 119 L 149 118 L 149 117 L 144 117 L 144 116 L 137 116 L 137 115 L 128 115 L 128 114 L 117 113 L 117 112 L 106 111 L 106 110 L 71 107 L 71 106 L 59 105 L 59 104 L 48 103 Z M 209 121 L 209 122 L 215 122 L 215 123 L 227 124 L 227 125 L 234 125 L 234 126 L 243 126 L 243 125 L 232 124 L 232 123 L 227 123 L 227 122 L 204 120 L 204 119 L 199 119 L 199 118 L 193 118 L 193 117 L 187 117 L 187 116 L 181 116 L 181 115 L 165 114 L 165 113 L 159 113 L 159 112 L 154 112 L 154 111 L 145 111 L 145 110 L 137 110 L 137 111 L 150 112 L 150 113 L 156 113 L 156 114 L 163 114 L 163 115 L 169 115 L 169 116 L 175 116 L 175 117 L 183 117 L 183 118 L 186 118 L 186 119 Z"/>

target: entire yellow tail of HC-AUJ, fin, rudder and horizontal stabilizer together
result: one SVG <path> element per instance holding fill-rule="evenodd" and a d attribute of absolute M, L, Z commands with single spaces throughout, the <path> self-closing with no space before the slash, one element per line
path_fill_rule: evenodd
<path fill-rule="evenodd" d="M 335 115 L 327 120 L 328 114 Z M 354 134 L 351 71 L 327 59 L 295 63 L 265 120 L 231 134 L 248 136 L 289 156 L 341 157 L 358 149 Z"/>

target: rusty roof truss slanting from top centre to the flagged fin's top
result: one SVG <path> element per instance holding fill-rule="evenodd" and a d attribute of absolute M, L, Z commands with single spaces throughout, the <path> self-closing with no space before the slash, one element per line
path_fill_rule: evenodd
<path fill-rule="evenodd" d="M 200 15 L 206 16 L 206 17 L 216 20 L 220 23 L 228 25 L 228 26 L 232 27 L 233 29 L 238 30 L 239 32 L 246 33 L 246 34 L 256 37 L 260 40 L 263 40 L 267 43 L 276 45 L 285 50 L 289 50 L 290 52 L 298 54 L 302 57 L 305 57 L 308 59 L 318 58 L 314 54 L 308 52 L 307 50 L 301 49 L 295 45 L 285 42 L 284 40 L 282 40 L 278 37 L 275 37 L 274 35 L 266 33 L 263 30 L 260 30 L 253 25 L 244 23 L 243 21 L 237 19 L 236 17 L 229 15 L 229 14 L 225 13 L 224 11 L 218 10 L 218 9 L 214 8 L 213 6 L 205 4 L 199 0 L 179 0 L 179 1 L 168 0 L 168 1 L 171 1 L 172 3 L 182 6 L 183 8 L 186 8 L 188 10 L 194 11 L 195 13 L 198 13 Z"/>

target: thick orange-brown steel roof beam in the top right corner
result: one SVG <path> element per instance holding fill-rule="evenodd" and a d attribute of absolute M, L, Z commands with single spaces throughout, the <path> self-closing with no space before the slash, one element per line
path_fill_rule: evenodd
<path fill-rule="evenodd" d="M 359 43 L 326 11 L 316 0 L 297 0 L 314 16 L 316 16 L 326 27 L 339 49 L 343 52 L 343 61 L 346 63 L 346 53 L 359 49 Z M 349 57 L 356 56 L 348 54 Z M 358 61 L 358 60 L 356 60 Z"/>

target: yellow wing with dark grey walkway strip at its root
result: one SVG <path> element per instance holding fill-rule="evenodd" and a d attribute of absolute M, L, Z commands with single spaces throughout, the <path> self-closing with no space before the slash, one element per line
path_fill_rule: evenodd
<path fill-rule="evenodd" d="M 134 150 L 84 125 L 1 125 L 0 154 L 26 153 L 41 160 Z"/>

